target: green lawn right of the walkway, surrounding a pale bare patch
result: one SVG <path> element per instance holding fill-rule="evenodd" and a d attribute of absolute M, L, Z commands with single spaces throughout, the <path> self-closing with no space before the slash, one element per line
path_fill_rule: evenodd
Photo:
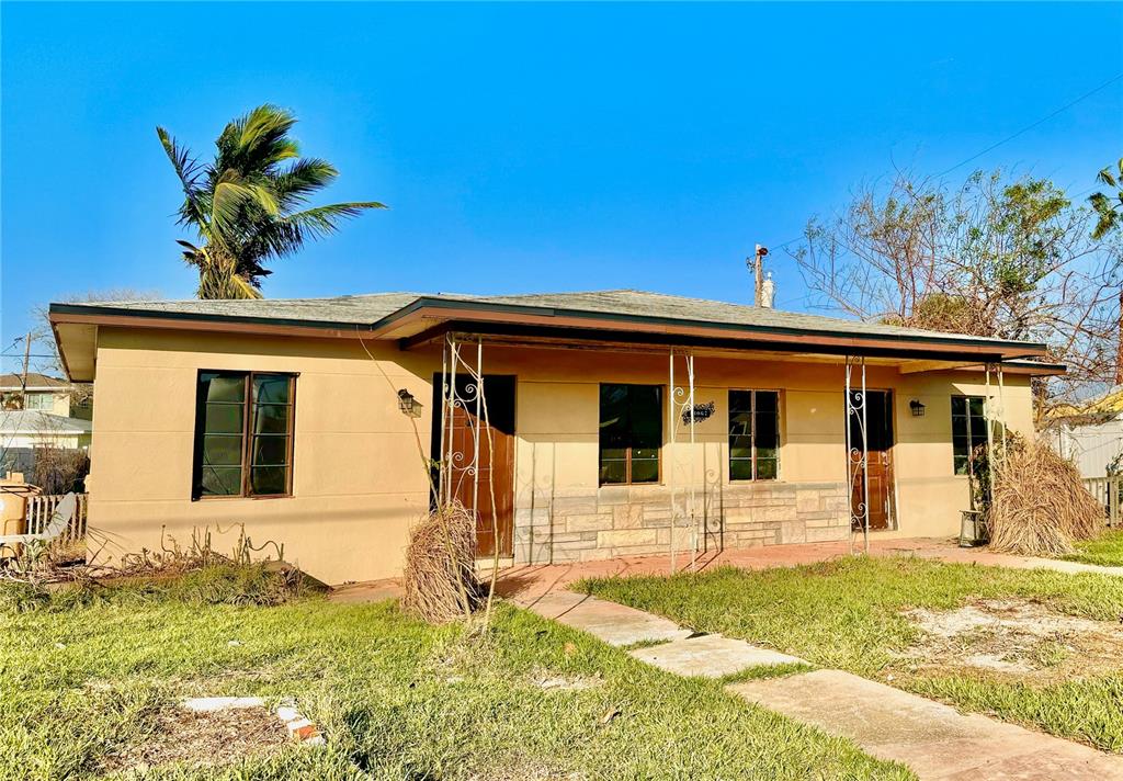
<path fill-rule="evenodd" d="M 1063 615 L 1111 621 L 1103 625 L 1110 633 L 1123 615 L 1119 578 L 849 557 L 761 572 L 725 567 L 672 578 L 590 580 L 575 588 L 697 630 L 742 637 L 816 665 L 1123 752 L 1119 655 L 1108 653 L 1106 664 L 1092 668 L 1084 664 L 1089 656 L 1083 648 L 1070 650 L 1074 641 L 1058 636 L 1034 650 L 1044 664 L 1057 666 L 1035 675 L 919 663 L 903 652 L 922 633 L 902 616 L 912 608 L 943 610 L 978 599 L 1017 598 Z M 967 637 L 951 654 L 966 655 L 973 643 L 986 639 Z"/>

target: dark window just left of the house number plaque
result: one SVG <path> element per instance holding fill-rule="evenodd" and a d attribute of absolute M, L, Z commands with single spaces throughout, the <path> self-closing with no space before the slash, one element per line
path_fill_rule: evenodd
<path fill-rule="evenodd" d="M 601 485 L 659 482 L 661 385 L 601 385 Z"/>

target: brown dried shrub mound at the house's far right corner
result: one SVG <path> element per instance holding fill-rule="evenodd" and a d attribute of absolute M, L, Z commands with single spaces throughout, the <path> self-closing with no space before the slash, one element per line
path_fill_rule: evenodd
<path fill-rule="evenodd" d="M 1044 444 L 1016 441 L 994 464 L 990 548 L 1024 556 L 1071 553 L 1072 542 L 1097 536 L 1104 508 L 1080 473 Z"/>

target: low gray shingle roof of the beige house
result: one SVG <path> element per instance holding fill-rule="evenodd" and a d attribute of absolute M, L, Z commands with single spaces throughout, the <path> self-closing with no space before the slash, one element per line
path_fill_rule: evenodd
<path fill-rule="evenodd" d="M 715 323 L 747 328 L 782 328 L 807 333 L 844 333 L 857 336 L 887 336 L 893 338 L 939 337 L 978 339 L 987 337 L 946 334 L 919 328 L 902 328 L 879 323 L 865 323 L 822 315 L 782 311 L 749 307 L 724 301 L 667 296 L 641 290 L 601 290 L 570 293 L 527 293 L 513 296 L 472 296 L 455 293 L 374 293 L 340 296 L 337 298 L 259 299 L 249 301 L 122 301 L 95 305 L 66 305 L 70 311 L 89 307 L 91 310 L 111 309 L 136 314 L 174 314 L 223 318 L 252 318 L 255 320 L 287 320 L 323 324 L 373 325 L 419 299 L 462 301 L 474 305 L 505 305 L 562 309 L 612 316 L 659 318 L 693 323 Z"/>

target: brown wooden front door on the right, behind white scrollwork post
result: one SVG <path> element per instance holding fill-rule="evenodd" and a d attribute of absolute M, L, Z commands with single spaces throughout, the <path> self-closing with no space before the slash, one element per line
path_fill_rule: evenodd
<path fill-rule="evenodd" d="M 858 407 L 861 394 L 851 391 L 850 405 Z M 848 407 L 849 410 L 849 407 Z M 893 525 L 893 396 L 889 391 L 866 391 L 866 428 L 861 429 L 860 415 L 847 414 L 850 426 L 851 449 L 848 457 L 850 466 L 850 515 L 855 518 L 855 528 L 860 529 L 857 520 L 862 517 L 861 506 L 869 508 L 869 528 L 887 529 Z M 862 445 L 867 446 L 868 457 L 865 472 L 860 465 Z M 866 496 L 868 473 L 869 496 Z"/>

